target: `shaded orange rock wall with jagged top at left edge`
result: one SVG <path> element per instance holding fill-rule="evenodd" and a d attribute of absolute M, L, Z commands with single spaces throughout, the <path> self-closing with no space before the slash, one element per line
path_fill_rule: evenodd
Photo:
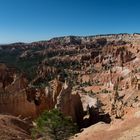
<path fill-rule="evenodd" d="M 22 115 L 23 117 L 36 116 L 33 103 L 27 101 L 25 88 L 28 80 L 23 74 L 17 73 L 14 68 L 0 64 L 0 113 Z"/>

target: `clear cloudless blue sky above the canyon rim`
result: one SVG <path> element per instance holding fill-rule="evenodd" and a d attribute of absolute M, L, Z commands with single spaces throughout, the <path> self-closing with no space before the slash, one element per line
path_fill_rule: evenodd
<path fill-rule="evenodd" d="M 140 33 L 140 0 L 0 0 L 0 44 Z"/>

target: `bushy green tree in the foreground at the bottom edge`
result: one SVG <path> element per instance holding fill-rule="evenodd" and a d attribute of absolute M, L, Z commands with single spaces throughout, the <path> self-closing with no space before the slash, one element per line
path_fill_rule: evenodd
<path fill-rule="evenodd" d="M 64 117 L 57 109 L 45 111 L 35 123 L 37 126 L 32 129 L 33 139 L 42 137 L 46 140 L 64 140 L 78 132 L 71 118 Z"/>

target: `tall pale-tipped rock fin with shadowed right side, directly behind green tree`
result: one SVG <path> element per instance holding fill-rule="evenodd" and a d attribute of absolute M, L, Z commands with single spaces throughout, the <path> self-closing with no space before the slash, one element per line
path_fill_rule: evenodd
<path fill-rule="evenodd" d="M 83 121 L 83 107 L 80 95 L 78 93 L 72 93 L 72 87 L 65 82 L 58 97 L 56 108 L 66 116 L 71 116 L 74 122 L 78 125 Z"/>

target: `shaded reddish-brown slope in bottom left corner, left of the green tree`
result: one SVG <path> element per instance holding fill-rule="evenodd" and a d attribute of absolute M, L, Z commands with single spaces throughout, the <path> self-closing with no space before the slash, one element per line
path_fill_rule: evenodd
<path fill-rule="evenodd" d="M 1 140 L 31 140 L 28 122 L 10 115 L 0 115 Z"/>

